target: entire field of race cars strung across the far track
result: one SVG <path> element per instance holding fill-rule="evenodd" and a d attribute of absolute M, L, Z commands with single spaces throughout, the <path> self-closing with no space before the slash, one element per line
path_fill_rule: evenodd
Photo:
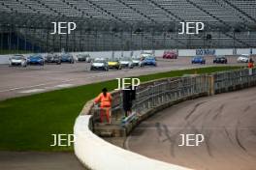
<path fill-rule="evenodd" d="M 176 51 L 165 51 L 162 55 L 164 60 L 177 59 Z M 237 62 L 248 63 L 250 56 L 241 54 Z M 153 66 L 157 67 L 157 60 L 153 53 L 142 53 L 140 56 L 120 57 L 120 58 L 91 58 L 89 54 L 78 54 L 74 56 L 71 53 L 48 53 L 45 56 L 42 54 L 33 54 L 25 57 L 21 54 L 16 54 L 9 58 L 9 66 L 27 67 L 30 65 L 44 66 L 45 64 L 61 65 L 62 63 L 75 64 L 76 62 L 91 63 L 90 71 L 109 71 L 110 69 L 121 70 L 124 68 L 133 69 L 134 67 Z M 217 55 L 213 57 L 213 64 L 228 64 L 226 56 Z M 205 56 L 194 56 L 191 59 L 191 64 L 207 64 Z"/>

